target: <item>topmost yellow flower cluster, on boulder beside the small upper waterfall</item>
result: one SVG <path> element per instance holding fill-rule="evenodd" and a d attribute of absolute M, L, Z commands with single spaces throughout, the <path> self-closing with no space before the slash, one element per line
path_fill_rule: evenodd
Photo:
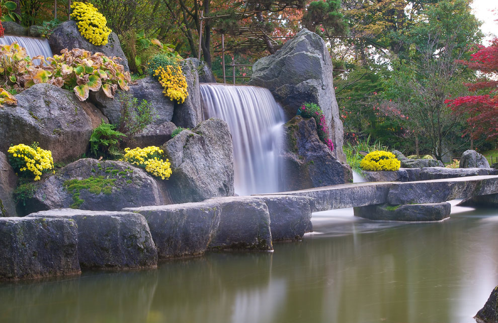
<path fill-rule="evenodd" d="M 81 36 L 96 46 L 106 45 L 112 32 L 107 27 L 106 17 L 91 3 L 75 2 L 71 9 L 71 18 L 76 21 Z"/>

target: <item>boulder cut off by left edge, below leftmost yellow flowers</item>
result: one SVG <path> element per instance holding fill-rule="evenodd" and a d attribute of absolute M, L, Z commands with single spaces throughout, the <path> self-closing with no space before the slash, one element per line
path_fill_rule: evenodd
<path fill-rule="evenodd" d="M 16 203 L 14 189 L 17 185 L 17 176 L 14 173 L 7 156 L 0 152 L 0 217 L 15 217 Z"/>

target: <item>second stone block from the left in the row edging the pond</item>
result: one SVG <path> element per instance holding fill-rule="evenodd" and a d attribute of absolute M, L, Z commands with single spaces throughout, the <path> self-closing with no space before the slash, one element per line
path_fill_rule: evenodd
<path fill-rule="evenodd" d="M 70 219 L 77 225 L 82 268 L 146 268 L 157 266 L 157 250 L 145 218 L 121 211 L 72 208 L 31 213 L 28 217 Z"/>

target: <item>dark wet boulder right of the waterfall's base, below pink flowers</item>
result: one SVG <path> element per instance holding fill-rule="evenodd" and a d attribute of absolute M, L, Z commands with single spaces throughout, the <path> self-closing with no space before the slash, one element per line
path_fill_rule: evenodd
<path fill-rule="evenodd" d="M 292 118 L 284 125 L 284 190 L 328 186 L 353 181 L 349 165 L 342 164 L 320 141 L 314 119 Z M 299 176 L 289 176 L 299 174 Z"/>

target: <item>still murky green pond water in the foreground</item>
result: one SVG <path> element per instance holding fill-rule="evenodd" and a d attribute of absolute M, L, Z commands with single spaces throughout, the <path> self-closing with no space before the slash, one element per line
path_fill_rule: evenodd
<path fill-rule="evenodd" d="M 475 322 L 498 284 L 498 210 L 430 224 L 313 215 L 274 253 L 0 283 L 1 322 Z"/>

